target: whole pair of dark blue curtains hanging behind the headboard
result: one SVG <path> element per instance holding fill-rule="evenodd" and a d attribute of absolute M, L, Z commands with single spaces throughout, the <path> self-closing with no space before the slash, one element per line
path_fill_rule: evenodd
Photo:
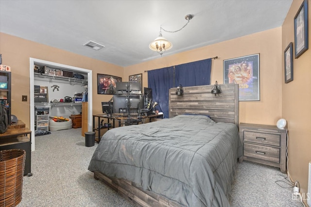
<path fill-rule="evenodd" d="M 148 71 L 148 88 L 152 88 L 155 110 L 169 118 L 169 90 L 181 84 L 186 86 L 209 85 L 211 58 Z"/>

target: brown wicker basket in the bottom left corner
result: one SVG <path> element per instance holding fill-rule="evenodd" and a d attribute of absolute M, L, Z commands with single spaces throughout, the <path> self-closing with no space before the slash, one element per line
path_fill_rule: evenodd
<path fill-rule="evenodd" d="M 0 151 L 0 207 L 15 207 L 21 201 L 26 152 Z"/>

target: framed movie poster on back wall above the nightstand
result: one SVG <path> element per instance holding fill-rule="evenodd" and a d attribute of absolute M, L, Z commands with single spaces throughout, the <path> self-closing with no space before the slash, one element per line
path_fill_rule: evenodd
<path fill-rule="evenodd" d="M 224 83 L 239 84 L 240 101 L 259 101 L 259 53 L 224 60 Z"/>

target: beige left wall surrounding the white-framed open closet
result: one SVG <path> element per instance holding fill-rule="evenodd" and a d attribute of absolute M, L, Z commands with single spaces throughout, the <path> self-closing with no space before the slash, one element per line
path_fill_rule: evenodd
<path fill-rule="evenodd" d="M 88 48 L 86 48 L 88 49 Z M 102 113 L 101 102 L 108 101 L 111 95 L 97 94 L 97 73 L 123 76 L 123 67 L 94 60 L 65 50 L 52 48 L 29 40 L 0 32 L 0 54 L 2 64 L 12 70 L 12 114 L 30 127 L 30 99 L 22 102 L 22 95 L 30 94 L 29 58 L 67 64 L 92 70 L 93 73 L 93 113 Z"/>

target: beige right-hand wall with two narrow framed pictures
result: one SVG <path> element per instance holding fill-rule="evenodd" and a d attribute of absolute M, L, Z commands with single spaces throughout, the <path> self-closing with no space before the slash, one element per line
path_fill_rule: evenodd
<path fill-rule="evenodd" d="M 282 52 L 290 42 L 294 44 L 294 16 L 303 0 L 294 0 L 282 26 Z M 294 59 L 294 80 L 282 80 L 282 115 L 288 122 L 289 170 L 292 179 L 298 180 L 301 191 L 308 191 L 308 164 L 311 161 L 311 2 L 309 11 L 309 49 Z M 294 49 L 295 52 L 295 49 Z M 284 58 L 282 74 L 284 74 Z M 306 195 L 305 195 L 306 196 Z"/>

